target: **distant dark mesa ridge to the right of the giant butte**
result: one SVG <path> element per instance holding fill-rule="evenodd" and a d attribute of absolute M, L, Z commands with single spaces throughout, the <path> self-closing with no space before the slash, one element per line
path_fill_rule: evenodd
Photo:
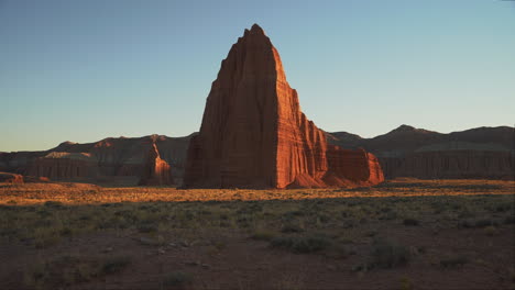
<path fill-rule="evenodd" d="M 386 178 L 515 179 L 515 130 L 508 126 L 441 134 L 402 125 L 373 138 L 336 132 L 327 140 L 374 153 Z"/>

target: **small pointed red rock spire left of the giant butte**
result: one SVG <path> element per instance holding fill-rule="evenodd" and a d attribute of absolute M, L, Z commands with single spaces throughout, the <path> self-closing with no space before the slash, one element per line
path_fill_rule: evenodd
<path fill-rule="evenodd" d="M 140 186 L 169 186 L 173 185 L 172 169 L 169 165 L 163 160 L 157 150 L 155 143 L 152 144 L 146 163 L 141 174 L 139 181 Z"/>

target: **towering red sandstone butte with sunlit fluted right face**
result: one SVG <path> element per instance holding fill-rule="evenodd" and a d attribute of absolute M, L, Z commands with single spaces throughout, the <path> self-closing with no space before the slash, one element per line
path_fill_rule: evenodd
<path fill-rule="evenodd" d="M 185 188 L 321 188 L 384 180 L 377 158 L 328 145 L 254 24 L 232 45 L 189 143 Z"/>

